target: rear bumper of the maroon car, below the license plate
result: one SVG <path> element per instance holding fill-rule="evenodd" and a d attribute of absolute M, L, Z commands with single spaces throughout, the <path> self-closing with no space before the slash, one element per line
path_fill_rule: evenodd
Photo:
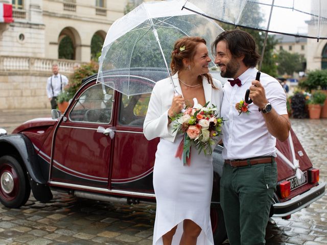
<path fill-rule="evenodd" d="M 289 201 L 284 203 L 276 203 L 273 205 L 273 217 L 284 217 L 299 211 L 302 208 L 309 206 L 321 198 L 325 193 L 326 183 L 319 183 L 319 185 L 311 188 L 305 193 L 297 195 Z"/>

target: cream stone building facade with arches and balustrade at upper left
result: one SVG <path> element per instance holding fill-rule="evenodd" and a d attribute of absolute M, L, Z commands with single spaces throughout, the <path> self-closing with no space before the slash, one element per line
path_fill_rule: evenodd
<path fill-rule="evenodd" d="M 12 23 L 0 23 L 0 109 L 50 108 L 46 79 L 53 63 L 69 75 L 91 59 L 91 40 L 104 40 L 127 0 L 0 0 L 13 4 Z M 69 37 L 73 59 L 59 59 Z"/>

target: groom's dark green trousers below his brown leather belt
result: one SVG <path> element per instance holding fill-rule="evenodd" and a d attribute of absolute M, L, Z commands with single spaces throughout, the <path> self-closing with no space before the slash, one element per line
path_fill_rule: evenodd
<path fill-rule="evenodd" d="M 232 167 L 224 164 L 220 202 L 231 245 L 265 244 L 277 184 L 276 162 Z"/>

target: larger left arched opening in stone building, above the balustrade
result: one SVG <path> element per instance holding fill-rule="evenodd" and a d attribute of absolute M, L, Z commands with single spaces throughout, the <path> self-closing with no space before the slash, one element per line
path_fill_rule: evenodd
<path fill-rule="evenodd" d="M 58 58 L 76 60 L 79 58 L 77 47 L 80 45 L 80 37 L 74 28 L 62 29 L 58 38 Z"/>

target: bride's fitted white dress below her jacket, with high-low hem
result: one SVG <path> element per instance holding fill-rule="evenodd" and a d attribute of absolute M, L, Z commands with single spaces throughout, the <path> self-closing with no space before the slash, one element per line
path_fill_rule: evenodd
<path fill-rule="evenodd" d="M 183 220 L 191 219 L 202 231 L 197 244 L 214 245 L 210 202 L 213 188 L 212 156 L 191 150 L 191 165 L 183 165 L 175 157 L 182 134 L 174 142 L 160 138 L 153 170 L 153 186 L 157 200 L 153 244 L 162 243 L 162 235 L 178 225 L 172 244 L 179 244 Z"/>

